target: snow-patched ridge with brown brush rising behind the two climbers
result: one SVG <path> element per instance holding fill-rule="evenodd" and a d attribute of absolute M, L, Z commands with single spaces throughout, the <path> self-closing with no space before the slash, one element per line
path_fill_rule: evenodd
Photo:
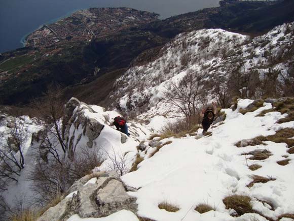
<path fill-rule="evenodd" d="M 166 93 L 174 85 L 185 91 L 184 81 L 190 75 L 200 79 L 195 83 L 200 84 L 198 100 L 202 104 L 219 92 L 228 98 L 293 95 L 292 42 L 293 22 L 253 39 L 223 29 L 180 34 L 161 49 L 155 61 L 134 66 L 118 78 L 109 101 L 135 115 L 146 111 L 152 115 L 156 107 L 157 114 L 176 116 L 166 104 Z"/>

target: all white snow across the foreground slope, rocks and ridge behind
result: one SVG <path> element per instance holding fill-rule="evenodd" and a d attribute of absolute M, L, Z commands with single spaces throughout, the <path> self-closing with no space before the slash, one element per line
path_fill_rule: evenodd
<path fill-rule="evenodd" d="M 290 25 L 293 27 L 294 23 Z M 95 170 L 113 170 L 113 160 L 122 161 L 124 168 L 121 172 L 124 175 L 121 179 L 126 185 L 137 188 L 136 192 L 128 192 L 128 194 L 137 198 L 139 216 L 157 221 L 266 220 L 255 213 L 244 214 L 240 217 L 231 216 L 233 210 L 226 209 L 223 199 L 233 194 L 249 196 L 252 199 L 254 210 L 274 220 L 281 214 L 294 213 L 294 192 L 292 191 L 294 176 L 291 176 L 294 171 L 294 154 L 287 153 L 287 145 L 265 141 L 267 145 L 243 148 L 235 146 L 241 140 L 274 135 L 281 129 L 294 128 L 294 121 L 276 123 L 287 114 L 273 111 L 265 116 L 258 116 L 262 111 L 272 109 L 270 103 L 264 103 L 263 107 L 243 115 L 239 113 L 239 110 L 246 108 L 253 101 L 239 99 L 236 110 L 222 110 L 226 113 L 226 119 L 223 124 L 217 123 L 209 129 L 209 132 L 212 132 L 210 137 L 197 137 L 199 139 L 196 139 L 195 136 L 189 135 L 178 139 L 166 138 L 160 142 L 170 142 L 152 157 L 150 156 L 157 148 L 149 146 L 150 141 L 148 140 L 152 133 L 160 133 L 168 122 L 182 118 L 175 108 L 166 104 L 164 91 L 168 90 L 170 83 L 178 85 L 180 80 L 191 71 L 207 72 L 205 79 L 213 79 L 217 76 L 224 77 L 226 81 L 230 69 L 237 65 L 232 59 L 236 57 L 244 60 L 244 67 L 240 71 L 246 72 L 254 67 L 254 64 L 258 62 L 262 64 L 266 61 L 263 53 L 269 48 L 273 54 L 276 54 L 280 51 L 281 46 L 293 42 L 292 36 L 285 35 L 285 28 L 286 25 L 281 25 L 250 41 L 247 36 L 222 29 L 203 29 L 180 34 L 162 49 L 162 57 L 144 66 L 130 68 L 124 76 L 118 79 L 122 85 L 115 95 L 124 94 L 124 96 L 114 103 L 119 103 L 124 110 L 129 110 L 131 107 L 136 111 L 138 107 L 141 107 L 140 105 L 145 109 L 140 109 L 137 122 L 127 122 L 131 136 L 127 137 L 123 143 L 122 133 L 110 126 L 113 118 L 121 115 L 119 112 L 105 111 L 104 108 L 96 105 L 81 104 L 79 108 L 83 109 L 84 116 L 104 125 L 100 135 L 93 140 L 92 148 L 97 150 L 97 154 L 100 154 L 105 161 Z M 281 41 L 281 37 L 285 37 L 285 40 Z M 209 44 L 203 48 L 201 44 L 204 40 L 207 40 Z M 268 42 L 262 47 L 261 44 L 265 41 Z M 197 58 L 197 62 L 191 60 L 187 67 L 181 67 L 180 57 L 185 52 L 181 48 L 181 43 L 187 44 L 186 52 L 190 54 L 190 57 Z M 224 47 L 228 51 L 237 48 L 242 53 L 239 56 L 235 51 L 234 56 L 224 59 L 220 52 Z M 255 55 L 248 58 L 252 52 Z M 286 66 L 286 64 L 277 64 L 273 68 L 283 69 L 281 73 L 286 75 Z M 263 68 L 256 70 L 260 78 L 267 71 Z M 134 85 L 133 82 L 137 84 Z M 208 96 L 207 100 L 211 100 L 211 96 Z M 76 111 L 78 108 L 75 109 Z M 30 190 L 31 181 L 27 180 L 35 163 L 35 146 L 31 144 L 31 135 L 38 132 L 41 127 L 26 116 L 18 120 L 24 122 L 25 130 L 30 136 L 24 148 L 25 168 L 21 172 L 18 183 L 12 182 L 4 193 L 9 204 L 20 201 L 20 198 L 23 197 L 29 199 L 34 195 Z M 73 143 L 79 143 L 75 146 L 76 154 L 79 154 L 79 149 L 87 146 L 89 142 L 89 138 L 83 131 L 82 125 L 76 128 L 74 123 L 69 130 L 69 140 L 72 138 Z M 1 146 L 4 145 L 8 132 L 7 125 L 0 126 Z M 200 129 L 198 134 L 201 132 Z M 154 138 L 157 141 L 159 139 L 159 137 Z M 140 142 L 148 146 L 145 151 L 137 150 Z M 250 155 L 244 155 L 244 153 L 253 150 L 268 150 L 272 155 L 263 161 L 250 160 Z M 138 165 L 136 171 L 128 173 L 137 154 L 144 160 Z M 284 159 L 290 160 L 288 165 L 277 164 L 277 161 Z M 262 167 L 251 171 L 248 166 L 252 164 L 259 164 Z M 249 188 L 247 185 L 252 181 L 252 175 L 271 177 L 276 180 L 255 183 Z M 97 178 L 92 178 L 85 185 L 95 183 L 96 180 Z M 77 194 L 77 191 L 66 197 L 71 198 L 73 194 Z M 162 202 L 176 205 L 179 211 L 168 212 L 159 209 L 158 205 Z M 209 204 L 215 211 L 198 213 L 194 208 L 200 203 Z M 131 211 L 121 210 L 103 218 L 80 218 L 78 215 L 73 215 L 68 220 L 132 221 L 138 218 Z M 292 219 L 282 218 L 280 220 Z"/>

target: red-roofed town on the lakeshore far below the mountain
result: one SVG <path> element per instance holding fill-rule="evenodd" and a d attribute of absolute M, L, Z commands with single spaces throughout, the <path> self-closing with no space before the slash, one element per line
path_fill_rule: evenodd
<path fill-rule="evenodd" d="M 90 8 L 73 13 L 31 33 L 25 46 L 48 48 L 71 42 L 90 42 L 120 30 L 158 20 L 158 14 L 130 8 Z"/>

